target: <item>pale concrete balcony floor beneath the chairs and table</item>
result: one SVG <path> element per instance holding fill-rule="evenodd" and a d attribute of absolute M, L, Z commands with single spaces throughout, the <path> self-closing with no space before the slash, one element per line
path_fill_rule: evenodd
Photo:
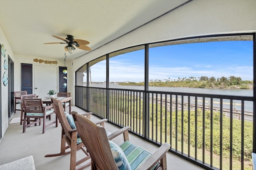
<path fill-rule="evenodd" d="M 84 113 L 85 111 L 72 106 L 72 111 L 78 113 Z M 20 111 L 14 113 L 12 119 L 20 117 Z M 91 117 L 92 121 L 96 121 L 99 118 L 96 116 Z M 52 121 L 55 120 L 55 115 L 52 116 Z M 49 120 L 47 120 L 49 123 Z M 70 154 L 64 156 L 48 157 L 45 158 L 46 154 L 60 152 L 60 139 L 61 139 L 61 126 L 55 127 L 51 125 L 46 128 L 46 133 L 42 134 L 42 125 L 26 128 L 26 133 L 22 133 L 22 125 L 20 123 L 11 123 L 8 126 L 4 137 L 0 141 L 0 165 L 18 160 L 27 156 L 32 155 L 34 158 L 34 164 L 36 170 L 69 170 L 70 167 Z M 107 131 L 114 132 L 118 129 L 110 123 L 105 123 Z M 129 134 L 130 141 L 136 145 L 154 152 L 158 147 L 148 143 L 135 135 Z M 113 139 L 118 145 L 122 143 L 122 135 Z M 82 150 L 77 152 L 77 160 L 84 157 Z M 202 169 L 170 152 L 167 153 L 167 167 L 170 170 L 198 170 Z M 90 167 L 86 168 L 89 170 Z"/>

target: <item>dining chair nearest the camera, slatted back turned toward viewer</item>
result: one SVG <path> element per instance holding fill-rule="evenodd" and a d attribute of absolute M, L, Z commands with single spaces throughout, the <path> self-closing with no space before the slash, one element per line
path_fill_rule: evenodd
<path fill-rule="evenodd" d="M 41 125 L 41 119 L 43 119 L 43 133 L 45 133 L 45 128 L 56 123 L 56 127 L 58 126 L 58 121 L 56 117 L 56 121 L 53 121 L 46 125 L 46 116 L 54 114 L 54 109 L 52 105 L 43 106 L 42 99 L 38 98 L 23 98 L 22 105 L 24 106 L 24 120 L 23 120 L 23 133 L 26 132 L 26 127 L 31 125 L 36 125 L 39 123 Z M 35 121 L 30 123 L 30 118 L 34 118 Z"/>

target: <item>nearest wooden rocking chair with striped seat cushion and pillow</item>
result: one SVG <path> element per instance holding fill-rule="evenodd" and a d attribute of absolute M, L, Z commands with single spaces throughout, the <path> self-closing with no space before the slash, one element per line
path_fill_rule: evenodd
<path fill-rule="evenodd" d="M 132 170 L 167 169 L 166 152 L 170 149 L 170 144 L 164 143 L 156 152 L 150 154 L 128 141 L 128 127 L 124 132 L 125 142 L 119 147 L 109 141 L 116 134 L 107 136 L 104 127 L 96 125 L 75 111 L 72 111 L 72 115 L 82 142 L 91 156 L 92 170 L 118 170 L 117 164 L 119 167 L 130 166 Z"/>

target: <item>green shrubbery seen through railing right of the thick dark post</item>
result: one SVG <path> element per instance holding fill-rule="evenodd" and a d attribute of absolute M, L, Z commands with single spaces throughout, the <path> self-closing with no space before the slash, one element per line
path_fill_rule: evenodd
<path fill-rule="evenodd" d="M 181 141 L 181 111 L 178 111 L 178 137 L 179 141 Z M 158 113 L 158 117 L 160 117 L 160 113 Z M 167 126 L 168 130 L 170 129 L 170 112 L 167 115 Z M 188 142 L 188 111 L 184 111 L 184 141 Z M 165 118 L 163 116 L 163 120 Z M 175 137 L 176 131 L 176 112 L 172 112 L 172 137 Z M 213 153 L 216 155 L 220 155 L 220 112 L 213 113 Z M 232 153 L 233 159 L 240 160 L 241 159 L 241 121 L 238 119 L 233 119 L 233 140 L 232 140 Z M 158 126 L 163 124 L 160 122 L 158 118 Z M 203 125 L 203 116 L 202 111 L 197 111 L 197 146 L 195 146 L 195 111 L 190 111 L 190 145 L 193 147 L 197 147 L 198 149 L 202 149 L 203 141 L 205 142 L 205 149 L 210 152 L 210 111 L 205 111 L 205 122 Z M 203 139 L 203 129 L 205 133 L 205 138 Z M 252 122 L 244 121 L 244 160 L 250 161 L 251 160 L 251 153 L 252 153 L 252 131 L 253 126 Z M 170 133 L 170 131 L 168 131 Z M 223 114 L 222 116 L 222 156 L 225 158 L 229 158 L 230 154 L 230 118 L 225 117 Z"/>

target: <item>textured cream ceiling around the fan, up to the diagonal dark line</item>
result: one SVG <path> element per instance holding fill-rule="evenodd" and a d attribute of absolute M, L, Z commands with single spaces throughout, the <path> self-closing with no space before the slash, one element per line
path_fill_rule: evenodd
<path fill-rule="evenodd" d="M 0 0 L 0 27 L 14 54 L 61 59 L 66 44 L 52 37 L 90 42 L 92 50 L 172 10 L 187 0 Z M 88 51 L 78 48 L 68 59 Z"/>

